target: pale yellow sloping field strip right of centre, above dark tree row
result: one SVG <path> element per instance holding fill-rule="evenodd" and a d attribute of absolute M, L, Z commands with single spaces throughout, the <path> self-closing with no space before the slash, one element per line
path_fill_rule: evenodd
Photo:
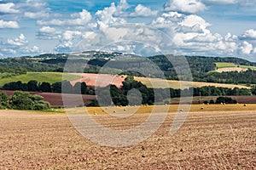
<path fill-rule="evenodd" d="M 148 88 L 189 88 L 191 86 L 201 88 L 204 86 L 215 86 L 222 88 L 248 88 L 242 85 L 223 84 L 223 83 L 212 83 L 212 82 L 185 82 L 175 80 L 164 80 L 160 78 L 148 78 L 148 77 L 134 77 L 138 82 L 143 82 Z"/>

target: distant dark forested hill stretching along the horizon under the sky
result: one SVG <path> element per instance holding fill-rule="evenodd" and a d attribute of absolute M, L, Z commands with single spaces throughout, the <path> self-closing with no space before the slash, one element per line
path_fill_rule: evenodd
<path fill-rule="evenodd" d="M 178 59 L 180 56 L 167 55 L 172 59 Z M 68 57 L 73 59 L 71 71 L 75 72 L 78 69 L 77 64 L 87 63 L 84 68 L 86 73 L 98 73 L 104 65 L 102 73 L 123 74 L 159 77 L 159 72 L 155 71 L 154 67 L 158 66 L 164 72 L 165 77 L 170 80 L 188 80 L 187 77 L 177 77 L 177 73 L 172 66 L 172 63 L 166 59 L 165 55 L 156 55 L 151 57 L 139 57 L 134 54 L 108 53 L 88 51 L 77 54 L 41 54 L 35 57 L 20 57 L 0 59 L 0 72 L 5 74 L 5 77 L 11 74 L 24 74 L 26 71 L 55 71 L 62 72 L 67 62 Z M 251 69 L 256 66 L 255 62 L 250 62 L 246 59 L 232 57 L 206 57 L 206 56 L 184 56 L 188 63 L 195 82 L 218 82 L 232 84 L 256 84 L 256 71 Z M 150 62 L 151 63 L 150 63 Z M 153 62 L 153 64 L 152 64 Z M 108 63 L 106 65 L 106 63 Z M 231 72 L 214 72 L 217 70 L 217 63 L 230 63 L 232 65 L 241 65 L 249 68 L 246 71 L 231 71 Z M 154 65 L 154 66 L 152 66 Z M 126 71 L 127 68 L 135 68 L 133 71 Z M 147 73 L 147 74 L 146 74 Z M 149 73 L 149 74 L 148 74 Z M 0 74 L 3 77 L 4 74 Z"/>

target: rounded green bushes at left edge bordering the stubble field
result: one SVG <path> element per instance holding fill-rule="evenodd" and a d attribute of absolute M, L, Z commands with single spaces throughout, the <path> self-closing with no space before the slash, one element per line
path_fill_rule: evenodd
<path fill-rule="evenodd" d="M 50 105 L 44 102 L 44 98 L 39 95 L 32 95 L 16 91 L 9 97 L 5 93 L 0 93 L 0 109 L 16 109 L 16 110 L 48 110 Z"/>

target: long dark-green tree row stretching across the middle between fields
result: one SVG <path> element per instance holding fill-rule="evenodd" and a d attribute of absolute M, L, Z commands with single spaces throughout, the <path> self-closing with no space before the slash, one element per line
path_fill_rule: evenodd
<path fill-rule="evenodd" d="M 63 89 L 61 89 L 63 88 Z M 168 94 L 171 97 L 180 97 L 180 94 L 184 95 L 193 94 L 194 96 L 224 96 L 224 95 L 256 95 L 256 86 L 251 89 L 248 88 L 220 88 L 214 86 L 205 86 L 201 88 L 189 88 L 189 89 L 174 89 L 174 88 L 147 88 L 142 82 L 137 82 L 133 77 L 126 77 L 125 82 L 123 82 L 123 88 L 119 90 L 115 86 L 110 86 L 110 89 L 115 91 L 113 96 L 119 96 L 117 93 L 122 92 L 122 94 L 127 95 L 129 90 L 135 88 L 143 94 L 143 103 L 147 103 L 146 100 L 152 100 L 154 92 L 159 94 L 160 99 L 166 99 Z M 67 93 L 67 94 L 91 94 L 95 95 L 95 89 L 87 87 L 85 82 L 76 82 L 74 86 L 70 82 L 62 81 L 49 84 L 49 82 L 38 83 L 35 80 L 29 81 L 27 83 L 18 82 L 9 82 L 3 85 L 3 90 L 21 90 L 21 91 L 30 91 L 30 92 L 48 92 L 48 93 Z M 109 87 L 99 89 L 98 91 L 104 91 L 109 89 Z M 151 97 L 148 97 L 151 96 Z"/>

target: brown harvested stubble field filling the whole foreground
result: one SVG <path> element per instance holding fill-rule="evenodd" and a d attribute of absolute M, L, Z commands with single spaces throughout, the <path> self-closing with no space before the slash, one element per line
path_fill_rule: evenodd
<path fill-rule="evenodd" d="M 204 105 L 201 110 L 201 105 L 192 105 L 192 112 L 174 135 L 169 135 L 175 116 L 170 112 L 149 139 L 125 148 L 91 143 L 65 114 L 0 111 L 0 169 L 255 169 L 255 108 Z M 151 109 L 143 106 L 139 112 Z M 85 108 L 79 108 L 82 110 Z M 171 105 L 171 110 L 177 110 L 177 106 Z M 89 109 L 92 114 L 94 111 L 102 110 Z M 92 117 L 117 129 L 134 127 L 148 117 L 135 114 L 113 118 L 103 113 Z"/>

